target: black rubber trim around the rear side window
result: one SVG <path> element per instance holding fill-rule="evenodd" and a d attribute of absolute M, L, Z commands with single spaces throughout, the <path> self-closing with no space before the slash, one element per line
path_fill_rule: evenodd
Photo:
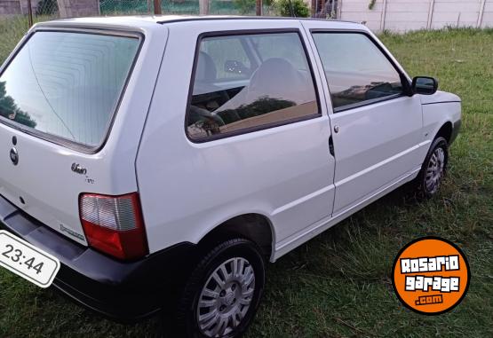
<path fill-rule="evenodd" d="M 235 36 L 235 35 L 267 35 L 267 34 L 280 34 L 280 33 L 281 34 L 282 33 L 296 33 L 299 37 L 299 41 L 300 41 L 301 45 L 303 46 L 303 51 L 305 51 L 306 62 L 308 64 L 308 67 L 310 68 L 310 75 L 312 76 L 312 82 L 314 83 L 314 92 L 315 92 L 315 97 L 316 97 L 316 102 L 317 102 L 317 113 L 316 114 L 309 114 L 306 116 L 301 116 L 301 117 L 294 118 L 294 119 L 285 120 L 282 122 L 266 123 L 266 124 L 262 124 L 262 125 L 256 126 L 256 127 L 245 128 L 243 130 L 230 131 L 230 132 L 227 132 L 224 134 L 208 136 L 206 138 L 192 138 L 188 133 L 187 122 L 188 122 L 188 115 L 189 115 L 190 106 L 192 104 L 192 94 L 193 94 L 194 83 L 195 83 L 195 72 L 196 72 L 196 68 L 197 68 L 198 56 L 199 56 L 200 46 L 201 46 L 202 40 L 204 38 L 207 38 L 207 37 L 221 37 L 221 36 Z M 303 35 L 301 34 L 301 30 L 299 28 L 260 28 L 260 29 L 219 30 L 219 31 L 203 32 L 203 33 L 199 34 L 197 37 L 197 43 L 195 45 L 194 66 L 192 68 L 192 75 L 190 78 L 190 85 L 188 88 L 188 98 L 187 98 L 187 108 L 186 109 L 187 109 L 187 111 L 185 114 L 185 122 L 184 122 L 185 135 L 187 135 L 187 138 L 190 142 L 195 143 L 195 144 L 211 142 L 211 141 L 215 141 L 215 140 L 222 139 L 222 138 L 233 138 L 235 136 L 239 136 L 239 135 L 243 135 L 243 134 L 249 134 L 249 133 L 260 131 L 260 130 L 268 130 L 268 129 L 288 125 L 291 123 L 303 122 L 303 121 L 312 120 L 312 119 L 315 119 L 318 117 L 322 117 L 322 108 L 321 108 L 320 96 L 319 96 L 317 84 L 316 84 L 315 77 L 314 77 L 313 60 L 309 57 L 308 50 L 306 49 L 306 42 L 303 38 Z"/>

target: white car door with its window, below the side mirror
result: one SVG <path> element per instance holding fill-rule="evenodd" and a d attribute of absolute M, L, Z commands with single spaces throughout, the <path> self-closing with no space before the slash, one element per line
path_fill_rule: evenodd
<path fill-rule="evenodd" d="M 417 172 L 421 104 L 417 96 L 404 95 L 407 76 L 369 33 L 310 34 L 332 106 L 338 216 Z"/>

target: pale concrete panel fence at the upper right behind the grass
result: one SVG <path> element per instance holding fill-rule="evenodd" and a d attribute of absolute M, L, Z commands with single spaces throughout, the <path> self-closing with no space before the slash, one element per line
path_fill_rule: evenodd
<path fill-rule="evenodd" d="M 493 27 L 493 0 L 338 0 L 340 19 L 374 31 L 404 32 L 450 27 Z"/>

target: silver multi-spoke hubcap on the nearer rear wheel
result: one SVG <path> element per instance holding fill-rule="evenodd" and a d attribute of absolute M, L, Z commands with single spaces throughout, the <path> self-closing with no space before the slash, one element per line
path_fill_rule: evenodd
<path fill-rule="evenodd" d="M 212 272 L 199 297 L 197 321 L 203 334 L 222 337 L 240 325 L 250 308 L 255 272 L 250 263 L 235 257 Z"/>

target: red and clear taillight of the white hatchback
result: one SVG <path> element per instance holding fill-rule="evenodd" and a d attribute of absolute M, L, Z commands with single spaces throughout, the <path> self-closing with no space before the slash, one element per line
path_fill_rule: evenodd
<path fill-rule="evenodd" d="M 120 259 L 147 255 L 139 195 L 84 193 L 79 201 L 83 231 L 89 245 Z"/>

